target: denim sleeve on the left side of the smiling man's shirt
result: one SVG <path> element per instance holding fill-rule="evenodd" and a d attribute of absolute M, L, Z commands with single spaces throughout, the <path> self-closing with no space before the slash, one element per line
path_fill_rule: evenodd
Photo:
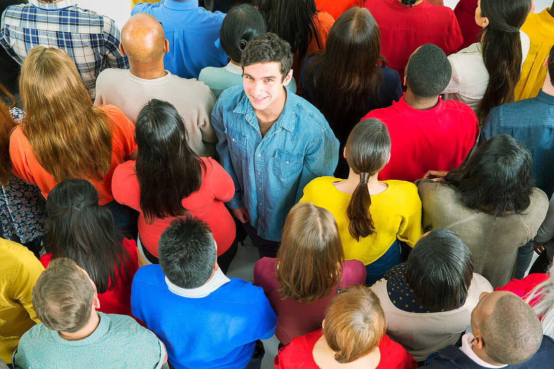
<path fill-rule="evenodd" d="M 232 199 L 227 202 L 227 205 L 231 209 L 239 209 L 244 206 L 242 199 L 240 198 L 240 186 L 233 168 L 233 163 L 231 162 L 231 157 L 229 154 L 229 143 L 227 142 L 227 134 L 225 125 L 223 124 L 223 106 L 221 104 L 221 99 L 217 100 L 216 106 L 214 106 L 212 111 L 212 126 L 216 130 L 216 136 L 218 139 L 216 150 L 219 154 L 219 163 L 223 169 L 229 173 L 233 183 L 235 185 L 235 194 Z"/>

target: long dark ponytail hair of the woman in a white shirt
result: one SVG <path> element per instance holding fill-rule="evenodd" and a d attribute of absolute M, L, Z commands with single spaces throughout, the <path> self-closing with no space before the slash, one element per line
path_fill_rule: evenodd
<path fill-rule="evenodd" d="M 514 89 L 521 74 L 521 38 L 519 29 L 531 10 L 531 0 L 481 0 L 481 17 L 489 24 L 483 35 L 483 61 L 489 72 L 489 84 L 481 101 L 481 124 L 493 107 L 514 101 Z"/>

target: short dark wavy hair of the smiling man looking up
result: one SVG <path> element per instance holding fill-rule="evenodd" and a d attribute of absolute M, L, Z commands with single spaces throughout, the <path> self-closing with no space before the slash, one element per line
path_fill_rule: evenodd
<path fill-rule="evenodd" d="M 278 35 L 271 32 L 260 33 L 250 39 L 243 50 L 240 64 L 245 66 L 276 61 L 281 68 L 281 76 L 285 79 L 293 66 L 293 53 L 290 45 Z"/>

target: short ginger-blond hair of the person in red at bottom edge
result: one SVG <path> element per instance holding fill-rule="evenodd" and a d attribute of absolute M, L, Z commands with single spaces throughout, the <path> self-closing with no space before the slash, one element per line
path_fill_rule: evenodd
<path fill-rule="evenodd" d="M 366 356 L 381 342 L 387 328 L 379 298 L 365 286 L 337 294 L 325 313 L 324 335 L 341 364 Z"/>

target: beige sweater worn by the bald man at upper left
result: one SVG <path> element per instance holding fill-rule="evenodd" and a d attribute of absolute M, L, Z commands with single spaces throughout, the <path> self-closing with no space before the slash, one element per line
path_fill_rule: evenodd
<path fill-rule="evenodd" d="M 192 150 L 200 156 L 213 156 L 213 147 L 206 142 L 216 141 L 210 122 L 216 98 L 204 83 L 169 72 L 160 78 L 142 79 L 129 69 L 113 68 L 104 69 L 96 79 L 94 106 L 115 105 L 133 124 L 151 99 L 171 102 L 183 117 Z"/>

